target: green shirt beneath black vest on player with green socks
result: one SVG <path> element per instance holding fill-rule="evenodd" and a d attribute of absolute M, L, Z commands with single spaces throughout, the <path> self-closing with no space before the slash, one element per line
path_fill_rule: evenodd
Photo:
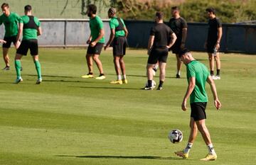
<path fill-rule="evenodd" d="M 21 23 L 23 23 L 23 38 L 22 40 L 32 40 L 32 39 L 37 39 L 38 35 L 37 35 L 37 28 L 40 27 L 41 23 L 38 20 L 38 18 L 36 18 L 35 16 L 31 16 L 31 18 L 33 18 L 33 22 L 36 24 L 36 27 L 33 27 L 33 25 L 29 25 L 28 28 L 26 27 L 26 24 L 29 22 L 29 17 L 28 16 L 21 16 Z"/>

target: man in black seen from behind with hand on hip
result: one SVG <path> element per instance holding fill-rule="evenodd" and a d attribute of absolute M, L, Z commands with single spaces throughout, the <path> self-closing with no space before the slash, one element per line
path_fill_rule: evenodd
<path fill-rule="evenodd" d="M 148 43 L 148 55 L 149 59 L 146 66 L 146 76 L 148 83 L 145 86 L 145 90 L 152 90 L 153 80 L 153 67 L 156 62 L 159 62 L 159 86 L 157 90 L 163 89 L 165 79 L 166 61 L 168 57 L 169 48 L 174 45 L 176 40 L 175 33 L 164 24 L 164 13 L 161 11 L 156 12 L 156 24 L 150 30 L 149 43 Z"/>

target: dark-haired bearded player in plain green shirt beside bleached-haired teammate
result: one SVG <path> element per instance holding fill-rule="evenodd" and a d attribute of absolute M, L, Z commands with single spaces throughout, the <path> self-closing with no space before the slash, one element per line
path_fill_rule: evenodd
<path fill-rule="evenodd" d="M 97 12 L 97 6 L 94 4 L 90 4 L 87 6 L 87 16 L 90 18 L 90 37 L 87 40 L 87 44 L 89 44 L 87 48 L 87 54 L 86 54 L 86 61 L 87 61 L 87 67 L 89 70 L 89 73 L 86 75 L 83 75 L 82 78 L 93 78 L 93 70 L 92 65 L 93 61 L 97 64 L 97 68 L 100 71 L 100 76 L 97 76 L 96 79 L 106 79 L 105 74 L 103 72 L 102 62 L 100 61 L 100 52 L 102 51 L 102 48 L 105 43 L 104 38 L 104 28 L 103 28 L 103 22 L 100 19 L 99 16 L 96 16 Z"/>

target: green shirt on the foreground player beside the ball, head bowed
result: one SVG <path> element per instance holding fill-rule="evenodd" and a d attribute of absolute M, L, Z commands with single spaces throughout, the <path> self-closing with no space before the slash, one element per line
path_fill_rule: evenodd
<path fill-rule="evenodd" d="M 186 69 L 188 82 L 190 77 L 196 78 L 196 86 L 191 93 L 190 103 L 208 102 L 206 80 L 210 76 L 210 73 L 207 67 L 201 62 L 193 60 L 186 65 Z"/>

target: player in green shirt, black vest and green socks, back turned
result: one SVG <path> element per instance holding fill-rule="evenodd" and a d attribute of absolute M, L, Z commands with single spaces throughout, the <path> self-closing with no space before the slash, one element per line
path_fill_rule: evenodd
<path fill-rule="evenodd" d="M 28 49 L 31 52 L 33 57 L 33 62 L 36 66 L 36 72 L 38 74 L 38 79 L 36 84 L 41 84 L 42 76 L 41 76 L 41 64 L 38 59 L 38 35 L 42 34 L 41 23 L 35 16 L 32 16 L 32 7 L 30 5 L 26 5 L 25 16 L 21 17 L 21 25 L 18 31 L 17 40 L 21 38 L 21 33 L 23 33 L 23 38 L 21 41 L 21 45 L 18 47 L 15 57 L 15 68 L 17 79 L 16 83 L 23 81 L 21 78 L 21 57 L 23 55 L 27 55 Z"/>

